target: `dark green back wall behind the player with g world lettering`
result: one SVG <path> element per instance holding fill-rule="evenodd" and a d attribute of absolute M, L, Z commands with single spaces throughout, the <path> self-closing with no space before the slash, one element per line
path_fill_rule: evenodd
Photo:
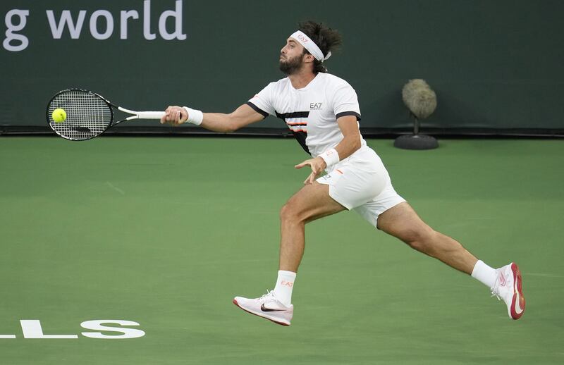
<path fill-rule="evenodd" d="M 145 4 L 149 4 L 148 2 Z M 331 73 L 357 90 L 362 128 L 398 130 L 411 120 L 401 87 L 424 78 L 438 107 L 427 128 L 564 130 L 564 1 L 180 1 L 184 40 L 165 40 L 159 16 L 173 0 L 150 1 L 150 30 L 143 31 L 142 0 L 2 0 L 0 16 L 29 11 L 16 33 L 21 51 L 0 47 L 0 125 L 44 126 L 52 94 L 67 87 L 92 89 L 130 109 L 161 110 L 169 104 L 229 112 L 283 75 L 278 53 L 299 20 L 313 18 L 340 30 L 341 52 Z M 114 20 L 108 39 L 94 39 L 90 16 L 106 10 Z M 78 39 L 66 28 L 54 39 L 47 10 L 59 21 L 87 11 Z M 135 10 L 121 39 L 120 12 Z M 1 32 L 6 42 L 6 24 Z M 97 30 L 106 30 L 99 18 Z M 167 32 L 173 32 L 169 18 Z M 20 44 L 11 41 L 11 46 Z M 136 122 L 134 126 L 156 126 Z M 256 128 L 282 128 L 267 118 Z M 192 128 L 192 127 L 183 127 Z"/>

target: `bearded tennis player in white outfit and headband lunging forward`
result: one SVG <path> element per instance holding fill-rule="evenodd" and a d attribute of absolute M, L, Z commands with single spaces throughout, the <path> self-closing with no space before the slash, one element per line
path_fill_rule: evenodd
<path fill-rule="evenodd" d="M 520 318 L 525 297 L 517 265 L 512 262 L 491 268 L 417 216 L 393 189 L 384 164 L 360 134 L 355 89 L 326 72 L 325 61 L 341 44 L 341 35 L 313 21 L 298 27 L 280 52 L 280 70 L 286 78 L 266 85 L 230 114 L 168 106 L 161 119 L 171 125 L 192 123 L 215 132 L 233 132 L 266 116 L 276 116 L 286 122 L 312 157 L 295 166 L 307 166 L 311 173 L 280 212 L 280 261 L 274 290 L 256 299 L 235 297 L 233 303 L 251 314 L 290 326 L 305 224 L 353 209 L 377 229 L 484 283 L 503 299 L 510 318 Z M 326 175 L 318 178 L 322 171 Z"/>

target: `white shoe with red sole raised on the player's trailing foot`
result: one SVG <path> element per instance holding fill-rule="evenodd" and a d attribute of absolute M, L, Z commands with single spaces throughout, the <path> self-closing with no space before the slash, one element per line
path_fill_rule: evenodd
<path fill-rule="evenodd" d="M 496 269 L 498 278 L 491 294 L 503 299 L 507 304 L 507 311 L 511 318 L 519 319 L 525 312 L 525 297 L 521 287 L 521 273 L 515 263 L 511 263 Z"/>

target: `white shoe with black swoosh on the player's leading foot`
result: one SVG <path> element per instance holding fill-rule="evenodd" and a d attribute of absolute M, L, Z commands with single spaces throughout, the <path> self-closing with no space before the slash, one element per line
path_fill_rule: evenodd
<path fill-rule="evenodd" d="M 286 307 L 276 299 L 274 292 L 269 291 L 266 291 L 265 295 L 256 299 L 235 297 L 233 304 L 243 309 L 243 311 L 266 318 L 282 326 L 290 326 L 294 313 L 294 306 L 292 304 L 290 304 L 290 307 Z"/>

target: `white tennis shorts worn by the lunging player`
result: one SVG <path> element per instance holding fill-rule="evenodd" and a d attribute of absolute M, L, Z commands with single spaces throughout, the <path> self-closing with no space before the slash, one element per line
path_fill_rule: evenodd
<path fill-rule="evenodd" d="M 339 161 L 317 182 L 329 185 L 331 198 L 348 210 L 354 209 L 374 227 L 380 214 L 405 202 L 393 190 L 390 175 L 380 157 L 367 146 Z"/>

